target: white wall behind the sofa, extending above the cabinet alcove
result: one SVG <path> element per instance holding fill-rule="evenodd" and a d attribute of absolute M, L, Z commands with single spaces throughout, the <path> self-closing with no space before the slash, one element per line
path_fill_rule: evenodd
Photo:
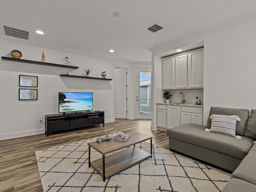
<path fill-rule="evenodd" d="M 153 51 L 157 55 L 204 41 L 204 125 L 211 106 L 256 108 L 256 18 L 244 18 L 238 19 L 239 23 L 232 20 L 214 32 L 170 42 L 169 46 Z"/>

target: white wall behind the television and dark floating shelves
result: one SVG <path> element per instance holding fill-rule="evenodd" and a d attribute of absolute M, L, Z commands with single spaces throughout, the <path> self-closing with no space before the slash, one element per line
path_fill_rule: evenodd
<path fill-rule="evenodd" d="M 105 111 L 105 122 L 114 121 L 114 66 L 126 66 L 128 63 L 116 62 L 86 56 L 46 46 L 32 45 L 22 41 L 0 38 L 1 56 L 10 56 L 10 52 L 18 49 L 22 59 L 40 61 L 44 51 L 46 62 L 64 64 L 64 58 L 70 58 L 70 65 L 78 66 L 77 70 L 66 68 L 39 66 L 20 62 L 0 60 L 0 139 L 44 133 L 44 124 L 38 120 L 46 114 L 58 113 L 58 92 L 93 92 L 94 110 Z M 90 76 L 101 77 L 102 71 L 112 81 L 88 80 L 80 78 L 60 77 L 60 74 L 82 75 L 84 68 L 92 68 Z M 20 101 L 19 75 L 38 76 L 38 100 Z M 108 102 L 106 102 L 108 101 Z"/>

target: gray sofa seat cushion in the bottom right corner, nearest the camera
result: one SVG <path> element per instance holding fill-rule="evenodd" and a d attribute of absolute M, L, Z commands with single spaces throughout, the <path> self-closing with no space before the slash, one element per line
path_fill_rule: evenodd
<path fill-rule="evenodd" d="M 249 183 L 247 181 L 232 178 L 226 184 L 222 192 L 255 192 L 256 185 Z"/>

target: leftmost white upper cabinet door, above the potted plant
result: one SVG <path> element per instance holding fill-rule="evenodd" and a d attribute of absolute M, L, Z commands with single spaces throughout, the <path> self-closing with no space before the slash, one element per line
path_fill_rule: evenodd
<path fill-rule="evenodd" d="M 174 88 L 174 58 L 162 61 L 162 89 Z"/>

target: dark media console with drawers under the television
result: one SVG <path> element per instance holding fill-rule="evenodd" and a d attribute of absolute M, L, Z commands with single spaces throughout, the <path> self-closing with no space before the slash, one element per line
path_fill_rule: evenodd
<path fill-rule="evenodd" d="M 45 115 L 45 134 L 85 128 L 104 123 L 104 111 Z"/>

